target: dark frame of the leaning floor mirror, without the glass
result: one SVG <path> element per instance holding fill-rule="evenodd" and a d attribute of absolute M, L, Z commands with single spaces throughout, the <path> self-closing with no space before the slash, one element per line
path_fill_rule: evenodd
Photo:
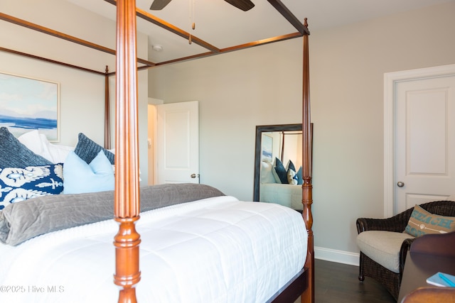
<path fill-rule="evenodd" d="M 256 126 L 255 140 L 255 183 L 253 186 L 253 201 L 259 201 L 259 184 L 261 182 L 261 150 L 262 150 L 262 133 L 272 131 L 301 131 L 301 123 L 299 124 L 277 124 L 277 125 L 262 125 Z"/>

